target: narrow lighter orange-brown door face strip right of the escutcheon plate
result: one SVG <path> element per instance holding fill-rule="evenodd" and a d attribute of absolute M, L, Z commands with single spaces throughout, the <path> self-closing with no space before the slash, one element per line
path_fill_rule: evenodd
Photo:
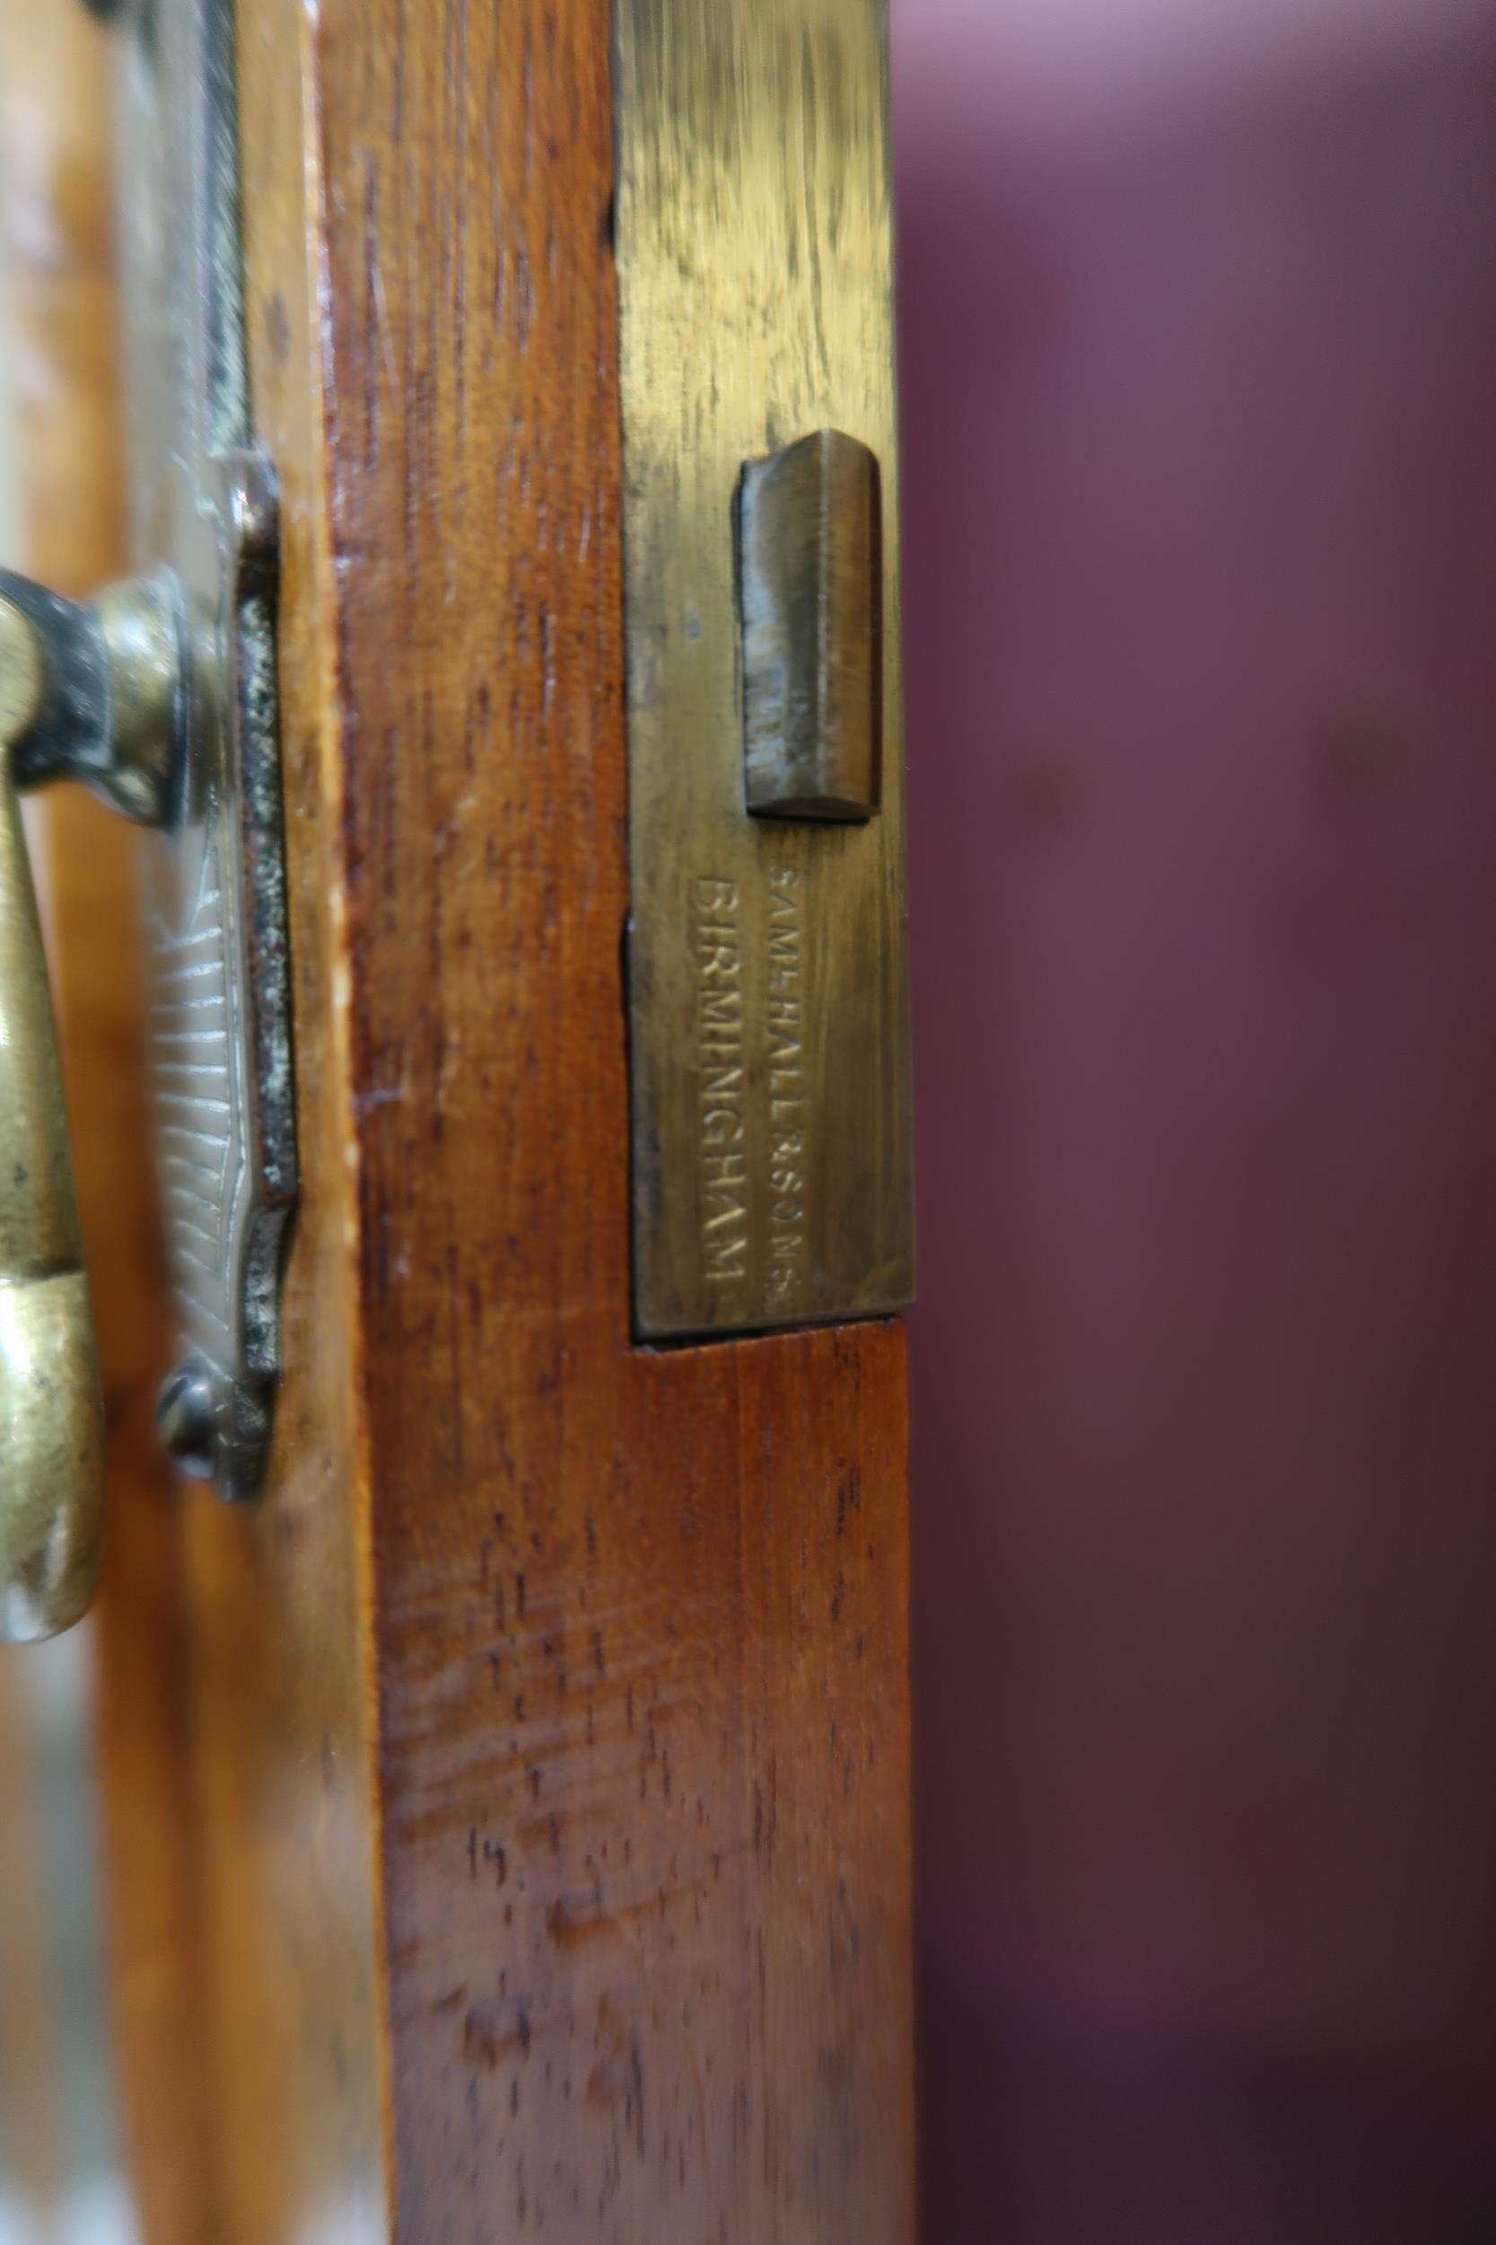
<path fill-rule="evenodd" d="M 330 97 L 330 92 L 327 92 Z M 242 0 L 253 418 L 280 476 L 280 723 L 301 1206 L 265 1497 L 186 1502 L 215 2245 L 388 2238 L 372 1792 L 366 1336 L 343 1008 L 341 595 L 332 566 L 314 25 Z"/>

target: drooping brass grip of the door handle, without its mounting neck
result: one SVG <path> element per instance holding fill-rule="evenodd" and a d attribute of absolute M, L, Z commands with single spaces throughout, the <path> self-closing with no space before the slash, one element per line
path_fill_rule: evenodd
<path fill-rule="evenodd" d="M 0 1641 L 81 1619 L 103 1542 L 103 1392 L 16 759 L 47 700 L 0 593 Z"/>

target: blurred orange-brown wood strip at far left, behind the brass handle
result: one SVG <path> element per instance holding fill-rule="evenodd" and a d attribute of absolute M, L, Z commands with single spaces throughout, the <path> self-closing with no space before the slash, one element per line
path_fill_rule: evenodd
<path fill-rule="evenodd" d="M 85 9 L 0 7 L 16 559 L 74 597 L 123 566 L 110 117 L 108 38 Z M 137 840 L 76 788 L 52 790 L 38 826 L 108 1408 L 94 1708 L 117 2115 L 148 2245 L 202 2245 L 213 2225 L 184 1607 L 175 1491 L 150 1435 L 168 1313 L 146 1143 Z"/>

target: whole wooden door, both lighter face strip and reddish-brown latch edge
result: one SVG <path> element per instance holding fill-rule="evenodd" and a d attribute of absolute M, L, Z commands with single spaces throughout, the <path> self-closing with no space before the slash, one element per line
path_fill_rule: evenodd
<path fill-rule="evenodd" d="M 240 0 L 240 99 L 305 1179 L 157 1572 L 193 2236 L 906 2245 L 904 1338 L 628 1331 L 610 11 Z"/>

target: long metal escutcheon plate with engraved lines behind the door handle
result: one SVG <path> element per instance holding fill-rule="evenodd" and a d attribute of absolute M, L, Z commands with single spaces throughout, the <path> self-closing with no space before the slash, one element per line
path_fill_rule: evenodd
<path fill-rule="evenodd" d="M 157 1176 L 182 1363 L 159 1428 L 260 1486 L 296 1201 L 276 721 L 276 483 L 251 445 L 231 0 L 119 11 L 132 561 L 182 599 L 186 757 L 144 837 Z"/>

